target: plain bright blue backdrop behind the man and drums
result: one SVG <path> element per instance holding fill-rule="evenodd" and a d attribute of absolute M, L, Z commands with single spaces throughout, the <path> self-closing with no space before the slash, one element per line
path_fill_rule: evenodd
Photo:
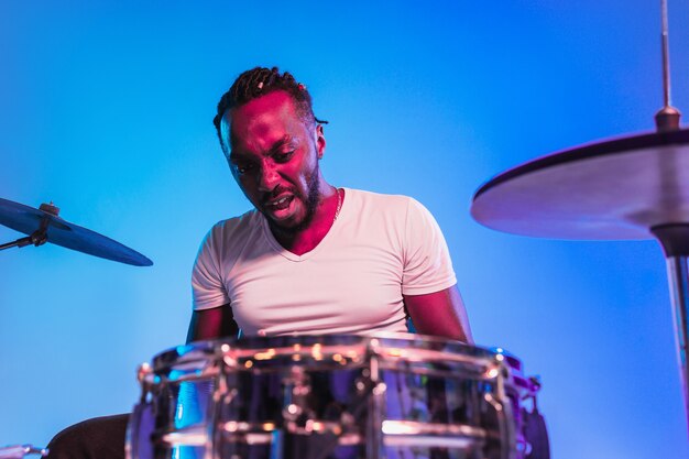
<path fill-rule="evenodd" d="M 54 200 L 155 262 L 0 254 L 0 446 L 130 409 L 136 365 L 185 340 L 198 243 L 249 208 L 216 103 L 242 70 L 278 65 L 330 121 L 330 183 L 434 212 L 477 342 L 542 375 L 555 458 L 689 455 L 657 243 L 528 239 L 469 216 L 496 173 L 653 129 L 657 2 L 141 3 L 0 3 L 0 196 Z M 686 109 L 687 6 L 670 15 Z"/>

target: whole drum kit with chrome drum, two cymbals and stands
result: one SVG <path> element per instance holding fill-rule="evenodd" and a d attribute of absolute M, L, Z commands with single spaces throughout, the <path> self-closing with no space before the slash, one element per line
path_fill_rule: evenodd
<path fill-rule="evenodd" d="M 472 217 L 504 232 L 575 240 L 657 239 L 667 258 L 689 416 L 689 130 L 670 105 L 656 132 L 561 151 L 482 185 Z M 0 223 L 28 237 L 0 250 L 56 243 L 132 265 L 142 254 L 39 209 L 0 199 Z M 139 370 L 128 459 L 544 459 L 545 423 L 522 363 L 418 335 L 288 336 L 199 341 Z M 0 448 L 0 459 L 46 451 Z"/>

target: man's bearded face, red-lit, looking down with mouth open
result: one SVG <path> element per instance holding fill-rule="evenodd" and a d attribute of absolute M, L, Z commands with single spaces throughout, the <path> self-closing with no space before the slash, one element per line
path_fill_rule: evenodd
<path fill-rule="evenodd" d="M 284 231 L 308 225 L 320 197 L 322 129 L 305 122 L 285 91 L 228 110 L 222 141 L 230 168 L 251 204 Z"/>

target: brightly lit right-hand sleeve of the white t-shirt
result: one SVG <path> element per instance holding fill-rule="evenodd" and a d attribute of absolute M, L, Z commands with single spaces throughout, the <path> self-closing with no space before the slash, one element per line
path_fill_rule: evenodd
<path fill-rule="evenodd" d="M 450 251 L 436 219 L 420 203 L 407 206 L 402 294 L 425 295 L 457 283 Z"/>

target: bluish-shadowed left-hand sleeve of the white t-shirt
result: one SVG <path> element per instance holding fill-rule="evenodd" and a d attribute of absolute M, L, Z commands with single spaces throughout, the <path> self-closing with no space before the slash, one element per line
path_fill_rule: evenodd
<path fill-rule="evenodd" d="M 219 231 L 220 228 L 215 227 L 206 234 L 194 262 L 192 271 L 194 310 L 210 309 L 230 303 L 218 262 Z"/>

